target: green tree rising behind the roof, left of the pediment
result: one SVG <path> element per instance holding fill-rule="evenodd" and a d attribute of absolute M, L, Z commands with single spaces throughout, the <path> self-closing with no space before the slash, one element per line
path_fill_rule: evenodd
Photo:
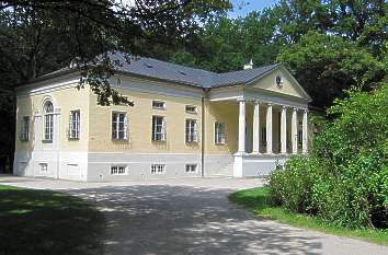
<path fill-rule="evenodd" d="M 190 45 L 171 60 L 217 72 L 241 70 L 251 58 L 256 66 L 273 63 L 279 50 L 273 40 L 275 22 L 269 10 L 246 18 L 218 16 L 198 35 L 196 47 Z"/>

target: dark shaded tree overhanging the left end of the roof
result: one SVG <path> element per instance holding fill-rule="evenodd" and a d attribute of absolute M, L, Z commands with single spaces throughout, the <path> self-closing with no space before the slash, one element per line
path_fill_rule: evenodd
<path fill-rule="evenodd" d="M 5 0 L 0 1 L 0 144 L 12 162 L 15 85 L 75 67 L 101 105 L 128 103 L 110 83 L 111 51 L 156 56 L 183 44 L 229 0 Z M 99 58 L 95 58 L 99 56 Z M 128 61 L 130 59 L 128 58 Z M 1 157 L 1 155 L 0 155 Z M 1 160 L 3 161 L 3 160 Z"/>

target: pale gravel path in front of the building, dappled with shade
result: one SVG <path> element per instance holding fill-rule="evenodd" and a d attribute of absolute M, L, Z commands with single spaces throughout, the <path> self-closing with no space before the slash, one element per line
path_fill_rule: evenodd
<path fill-rule="evenodd" d="M 107 220 L 105 254 L 388 254 L 388 246 L 262 220 L 228 202 L 228 194 L 261 186 L 261 179 L 78 183 L 0 175 L 0 184 L 96 202 Z"/>

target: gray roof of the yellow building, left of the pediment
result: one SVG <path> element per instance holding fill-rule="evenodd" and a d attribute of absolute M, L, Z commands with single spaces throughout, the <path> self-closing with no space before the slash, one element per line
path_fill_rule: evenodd
<path fill-rule="evenodd" d="M 225 73 L 210 72 L 153 58 L 135 58 L 128 63 L 121 53 L 110 55 L 112 60 L 119 60 L 118 71 L 142 77 L 162 79 L 199 88 L 220 88 L 249 83 L 273 70 L 278 65 Z"/>

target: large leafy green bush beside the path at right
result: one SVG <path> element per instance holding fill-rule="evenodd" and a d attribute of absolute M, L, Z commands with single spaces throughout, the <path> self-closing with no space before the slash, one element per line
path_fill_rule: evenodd
<path fill-rule="evenodd" d="M 277 205 L 334 225 L 388 227 L 388 84 L 349 91 L 329 109 L 310 158 L 292 158 L 270 178 Z"/>

